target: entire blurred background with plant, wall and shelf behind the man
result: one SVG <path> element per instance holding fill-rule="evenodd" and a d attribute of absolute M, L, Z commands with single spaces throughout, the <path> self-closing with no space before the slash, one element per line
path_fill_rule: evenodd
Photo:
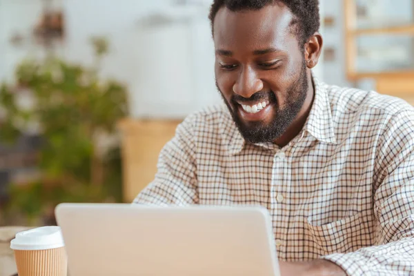
<path fill-rule="evenodd" d="M 190 112 L 221 101 L 212 0 L 0 0 L 0 226 L 130 202 Z M 414 1 L 322 0 L 315 75 L 414 103 Z"/>

